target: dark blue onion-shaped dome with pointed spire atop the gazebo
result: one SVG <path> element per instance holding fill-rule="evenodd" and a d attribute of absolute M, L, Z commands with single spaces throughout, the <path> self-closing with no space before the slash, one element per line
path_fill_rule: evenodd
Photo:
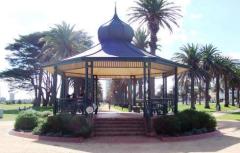
<path fill-rule="evenodd" d="M 101 25 L 98 29 L 98 40 L 100 43 L 106 41 L 127 41 L 131 42 L 134 36 L 134 31 L 131 26 L 119 19 L 116 13 L 113 18 Z"/>

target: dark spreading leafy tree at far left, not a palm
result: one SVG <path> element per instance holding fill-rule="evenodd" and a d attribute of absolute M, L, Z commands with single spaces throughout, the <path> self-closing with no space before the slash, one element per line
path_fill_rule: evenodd
<path fill-rule="evenodd" d="M 44 42 L 39 42 L 44 33 L 33 33 L 20 36 L 6 49 L 11 54 L 6 58 L 11 66 L 10 69 L 1 72 L 0 77 L 10 82 L 11 89 L 34 90 L 35 106 L 41 102 L 41 77 L 39 54 Z"/>

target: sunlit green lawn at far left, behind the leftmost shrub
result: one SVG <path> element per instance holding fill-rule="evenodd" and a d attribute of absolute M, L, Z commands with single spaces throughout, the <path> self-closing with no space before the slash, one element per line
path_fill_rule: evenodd
<path fill-rule="evenodd" d="M 3 118 L 0 118 L 0 121 L 13 121 L 17 117 L 19 108 L 23 109 L 24 107 L 32 107 L 32 104 L 0 104 L 0 109 L 3 109 L 4 114 Z M 34 109 L 36 111 L 52 111 L 52 107 L 40 107 Z"/>

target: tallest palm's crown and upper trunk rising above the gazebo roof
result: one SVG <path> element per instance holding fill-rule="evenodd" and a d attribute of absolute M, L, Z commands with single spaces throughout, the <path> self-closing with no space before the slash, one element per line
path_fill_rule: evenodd
<path fill-rule="evenodd" d="M 172 26 L 177 24 L 177 18 L 181 17 L 181 9 L 173 2 L 167 0 L 139 0 L 135 7 L 131 7 L 130 21 L 146 23 L 150 31 L 150 50 L 155 55 L 157 49 L 157 33 L 161 28 L 167 28 L 171 32 Z"/>

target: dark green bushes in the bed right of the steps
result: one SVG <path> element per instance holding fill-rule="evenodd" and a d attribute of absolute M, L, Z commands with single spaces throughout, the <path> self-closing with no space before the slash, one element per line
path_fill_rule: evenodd
<path fill-rule="evenodd" d="M 157 134 L 162 135 L 191 135 L 214 131 L 216 119 L 206 112 L 184 110 L 177 115 L 161 116 L 154 120 Z"/>

